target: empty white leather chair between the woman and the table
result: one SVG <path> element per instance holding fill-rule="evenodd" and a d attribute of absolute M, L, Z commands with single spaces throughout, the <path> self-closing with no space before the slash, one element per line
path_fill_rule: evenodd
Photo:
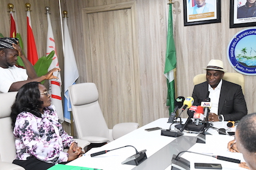
<path fill-rule="evenodd" d="M 91 143 L 108 143 L 137 129 L 135 122 L 116 124 L 108 129 L 98 102 L 98 90 L 95 83 L 77 83 L 69 87 L 74 125 L 77 138 Z"/>

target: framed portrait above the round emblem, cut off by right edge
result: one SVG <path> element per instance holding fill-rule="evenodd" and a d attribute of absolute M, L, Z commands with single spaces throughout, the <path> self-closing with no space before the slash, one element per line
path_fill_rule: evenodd
<path fill-rule="evenodd" d="M 256 25 L 256 0 L 230 1 L 230 28 Z"/>

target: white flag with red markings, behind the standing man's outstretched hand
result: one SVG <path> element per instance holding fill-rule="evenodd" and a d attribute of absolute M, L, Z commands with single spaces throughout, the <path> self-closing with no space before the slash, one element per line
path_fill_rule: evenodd
<path fill-rule="evenodd" d="M 55 51 L 55 55 L 53 56 L 53 61 L 51 62 L 48 71 L 53 68 L 59 68 L 59 62 L 56 52 L 55 46 L 55 38 L 53 37 L 53 29 L 51 27 L 51 19 L 50 14 L 47 13 L 48 20 L 48 32 L 47 32 L 47 55 L 50 54 L 51 51 Z M 51 91 L 51 104 L 55 105 L 56 112 L 58 113 L 59 121 L 63 122 L 63 107 L 61 101 L 61 74 L 55 71 L 53 73 L 54 76 L 58 77 L 58 80 L 51 79 L 49 80 L 49 90 Z"/>

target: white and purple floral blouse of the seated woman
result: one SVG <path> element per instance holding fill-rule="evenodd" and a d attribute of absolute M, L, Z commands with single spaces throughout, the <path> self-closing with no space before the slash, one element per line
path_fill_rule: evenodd
<path fill-rule="evenodd" d="M 58 122 L 54 105 L 44 108 L 42 118 L 21 112 L 17 116 L 13 134 L 17 160 L 32 156 L 47 163 L 66 162 L 68 154 L 63 149 L 75 142 Z"/>

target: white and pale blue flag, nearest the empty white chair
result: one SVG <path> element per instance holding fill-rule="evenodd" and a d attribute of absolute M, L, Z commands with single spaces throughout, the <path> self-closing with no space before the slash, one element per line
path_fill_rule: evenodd
<path fill-rule="evenodd" d="M 78 79 L 77 63 L 75 62 L 75 54 L 70 40 L 69 28 L 67 27 L 67 18 L 64 18 L 64 120 L 70 123 L 70 101 L 69 87 Z"/>

